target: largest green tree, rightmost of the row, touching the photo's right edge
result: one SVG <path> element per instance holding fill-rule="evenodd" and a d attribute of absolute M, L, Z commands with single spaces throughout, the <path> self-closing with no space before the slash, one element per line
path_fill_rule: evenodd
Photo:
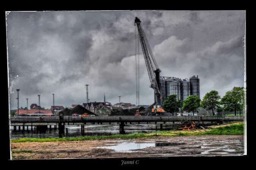
<path fill-rule="evenodd" d="M 245 91 L 243 87 L 234 87 L 231 91 L 226 92 L 225 96 L 221 99 L 221 104 L 226 111 L 242 110 L 245 103 Z"/>

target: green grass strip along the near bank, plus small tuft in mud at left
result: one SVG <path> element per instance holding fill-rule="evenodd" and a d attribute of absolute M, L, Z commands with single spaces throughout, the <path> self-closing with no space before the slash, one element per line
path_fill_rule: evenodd
<path fill-rule="evenodd" d="M 110 136 L 82 136 L 76 138 L 22 138 L 13 139 L 11 142 L 55 142 L 55 141 L 85 141 L 85 140 L 102 140 L 102 139 L 132 139 L 132 138 L 156 138 L 157 136 L 201 136 L 201 135 L 243 135 L 243 124 L 231 124 L 228 126 L 209 128 L 206 130 L 171 130 L 156 131 L 155 133 L 131 133 L 131 134 L 114 134 Z M 30 151 L 14 151 L 30 152 Z"/>

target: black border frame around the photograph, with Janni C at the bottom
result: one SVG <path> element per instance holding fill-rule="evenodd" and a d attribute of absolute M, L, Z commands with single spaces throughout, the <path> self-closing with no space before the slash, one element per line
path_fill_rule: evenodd
<path fill-rule="evenodd" d="M 129 2 L 131 3 L 131 2 Z M 134 3 L 132 4 L 134 5 Z M 135 8 L 134 8 L 135 7 Z M 250 100 L 247 100 L 248 97 L 250 98 L 250 96 L 252 96 L 250 90 L 250 87 L 248 88 L 248 83 L 251 83 L 251 79 L 247 80 L 247 155 L 244 156 L 210 156 L 210 157 L 204 157 L 204 156 L 200 156 L 200 157 L 161 157 L 161 158 L 80 158 L 80 159 L 48 159 L 48 160 L 10 160 L 10 142 L 9 142 L 9 117 L 8 117 L 8 113 L 9 112 L 9 102 L 8 100 L 8 72 L 7 72 L 7 49 L 6 49 L 6 22 L 5 22 L 5 11 L 56 11 L 56 10 L 216 10 L 216 9 L 209 9 L 209 8 L 203 8 L 203 9 L 192 9 L 191 7 L 189 8 L 185 8 L 185 9 L 166 9 L 168 8 L 168 6 L 163 7 L 163 5 L 159 8 L 159 5 L 154 6 L 153 8 L 148 8 L 146 6 L 141 6 L 141 7 L 137 7 L 137 6 L 132 6 L 132 8 L 128 6 L 126 7 L 121 7 L 118 9 L 114 9 L 113 7 L 107 7 L 104 6 L 102 7 L 86 7 L 86 8 L 64 8 L 64 9 L 53 9 L 52 7 L 46 6 L 46 7 L 42 7 L 42 8 L 33 8 L 33 9 L 20 9 L 20 7 L 15 7 L 15 6 L 11 6 L 11 8 L 6 8 L 2 11 L 2 21 L 3 21 L 3 25 L 2 25 L 2 35 L 5 34 L 3 36 L 3 49 L 5 49 L 5 51 L 3 52 L 3 56 L 2 56 L 2 75 L 4 75 L 4 79 L 5 79 L 5 83 L 2 83 L 2 85 L 4 85 L 4 110 L 2 112 L 3 114 L 3 119 L 5 120 L 4 124 L 2 123 L 2 129 L 5 130 L 4 135 L 3 135 L 3 142 L 2 142 L 2 155 L 4 156 L 4 161 L 5 163 L 11 165 L 12 167 L 21 167 L 21 165 L 32 165 L 34 167 L 34 165 L 38 166 L 38 167 L 73 167 L 74 165 L 82 165 L 84 168 L 87 168 L 88 165 L 94 165 L 96 167 L 98 166 L 103 166 L 103 167 L 162 167 L 163 165 L 167 165 L 169 168 L 173 168 L 176 165 L 179 168 L 184 168 L 184 167 L 191 167 L 193 169 L 195 168 L 206 168 L 205 166 L 210 166 L 210 167 L 228 167 L 228 168 L 239 168 L 239 167 L 243 167 L 245 164 L 247 164 L 248 161 L 248 157 L 250 155 L 252 155 L 252 150 L 250 150 L 249 148 L 252 146 L 250 145 L 249 141 L 251 141 L 251 136 L 253 136 L 253 134 L 251 134 L 251 136 L 248 136 L 248 132 L 251 130 L 251 128 L 249 128 L 251 125 L 249 124 L 250 120 L 250 114 L 248 115 L 248 106 L 250 105 L 249 102 Z M 177 6 L 176 6 L 177 7 Z M 179 7 L 183 7 L 179 6 Z M 219 8 L 220 6 L 218 6 Z M 249 62 L 249 60 L 251 60 L 251 56 L 249 56 L 248 54 L 250 54 L 250 47 L 251 47 L 251 11 L 249 9 L 245 9 L 245 7 L 243 7 L 243 9 L 241 9 L 242 6 L 239 6 L 239 8 L 236 7 L 236 9 L 232 9 L 232 10 L 246 10 L 246 53 L 247 53 L 247 77 L 251 77 L 251 71 L 249 71 L 251 69 L 251 65 L 252 62 Z M 229 8 L 229 7 L 228 7 Z M 223 9 L 223 7 L 217 9 L 217 10 L 227 10 L 227 9 Z M 252 117 L 252 116 L 251 116 Z M 252 127 L 252 126 L 251 126 Z M 6 145 L 8 145 L 9 147 L 6 147 Z M 126 160 L 126 161 L 133 161 L 133 160 L 139 160 L 139 164 L 133 164 L 133 165 L 121 165 L 121 161 L 122 160 Z M 51 164 L 51 165 L 49 165 Z M 30 167 L 30 166 L 28 166 Z"/>

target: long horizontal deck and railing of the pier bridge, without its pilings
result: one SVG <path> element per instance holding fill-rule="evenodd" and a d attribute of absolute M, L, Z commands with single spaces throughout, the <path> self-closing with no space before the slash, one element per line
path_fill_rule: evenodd
<path fill-rule="evenodd" d="M 195 122 L 219 122 L 219 121 L 243 121 L 244 116 L 92 116 L 92 117 L 76 117 L 76 116 L 64 116 L 60 119 L 59 116 L 19 116 L 10 117 L 10 125 L 43 125 L 43 124 L 86 124 L 86 123 L 100 123 L 100 124 L 111 124 L 120 122 L 133 122 L 155 124 L 165 124 L 167 122 L 181 122 L 181 121 L 195 121 Z"/>

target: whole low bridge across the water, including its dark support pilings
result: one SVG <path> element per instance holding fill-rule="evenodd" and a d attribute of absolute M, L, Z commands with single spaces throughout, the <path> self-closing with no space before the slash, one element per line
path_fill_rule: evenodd
<path fill-rule="evenodd" d="M 120 133 L 124 133 L 126 124 L 160 124 L 162 130 L 163 124 L 182 124 L 182 121 L 193 121 L 198 124 L 216 124 L 231 121 L 244 121 L 244 116 L 17 116 L 10 117 L 10 126 L 33 126 L 36 130 L 47 128 L 52 125 L 54 128 L 59 128 L 59 131 L 64 131 L 65 125 L 81 125 L 81 132 L 84 133 L 85 124 L 119 124 Z"/>

